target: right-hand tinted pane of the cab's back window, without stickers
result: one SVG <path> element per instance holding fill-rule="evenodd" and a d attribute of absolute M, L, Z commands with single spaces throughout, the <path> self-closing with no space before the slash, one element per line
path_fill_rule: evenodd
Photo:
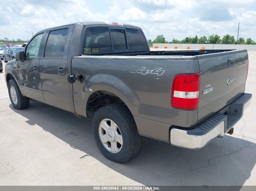
<path fill-rule="evenodd" d="M 126 28 L 126 38 L 130 51 L 148 50 L 146 39 L 138 29 Z"/>

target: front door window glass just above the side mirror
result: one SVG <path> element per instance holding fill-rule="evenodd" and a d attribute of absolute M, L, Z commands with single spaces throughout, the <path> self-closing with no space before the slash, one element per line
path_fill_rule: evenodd
<path fill-rule="evenodd" d="M 42 34 L 38 34 L 27 46 L 26 49 L 26 58 L 25 60 L 30 60 L 32 58 L 38 58 L 38 52 L 39 52 L 39 47 L 41 44 L 41 40 L 43 37 Z"/>

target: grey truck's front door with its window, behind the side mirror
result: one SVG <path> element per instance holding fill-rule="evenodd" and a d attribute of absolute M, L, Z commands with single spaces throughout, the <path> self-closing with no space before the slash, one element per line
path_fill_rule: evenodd
<path fill-rule="evenodd" d="M 44 33 L 35 35 L 26 46 L 25 61 L 18 62 L 18 71 L 23 94 L 26 97 L 45 102 L 39 75 L 39 58 Z"/>

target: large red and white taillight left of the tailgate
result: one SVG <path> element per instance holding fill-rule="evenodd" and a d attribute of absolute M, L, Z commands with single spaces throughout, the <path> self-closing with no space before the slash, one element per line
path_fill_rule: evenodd
<path fill-rule="evenodd" d="M 198 108 L 200 73 L 178 74 L 171 87 L 171 106 L 179 110 Z"/>

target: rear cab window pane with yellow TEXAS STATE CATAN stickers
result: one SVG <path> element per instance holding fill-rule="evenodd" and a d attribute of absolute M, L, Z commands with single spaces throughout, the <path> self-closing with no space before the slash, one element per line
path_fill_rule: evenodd
<path fill-rule="evenodd" d="M 91 27 L 86 29 L 83 54 L 112 52 L 108 27 Z"/>

